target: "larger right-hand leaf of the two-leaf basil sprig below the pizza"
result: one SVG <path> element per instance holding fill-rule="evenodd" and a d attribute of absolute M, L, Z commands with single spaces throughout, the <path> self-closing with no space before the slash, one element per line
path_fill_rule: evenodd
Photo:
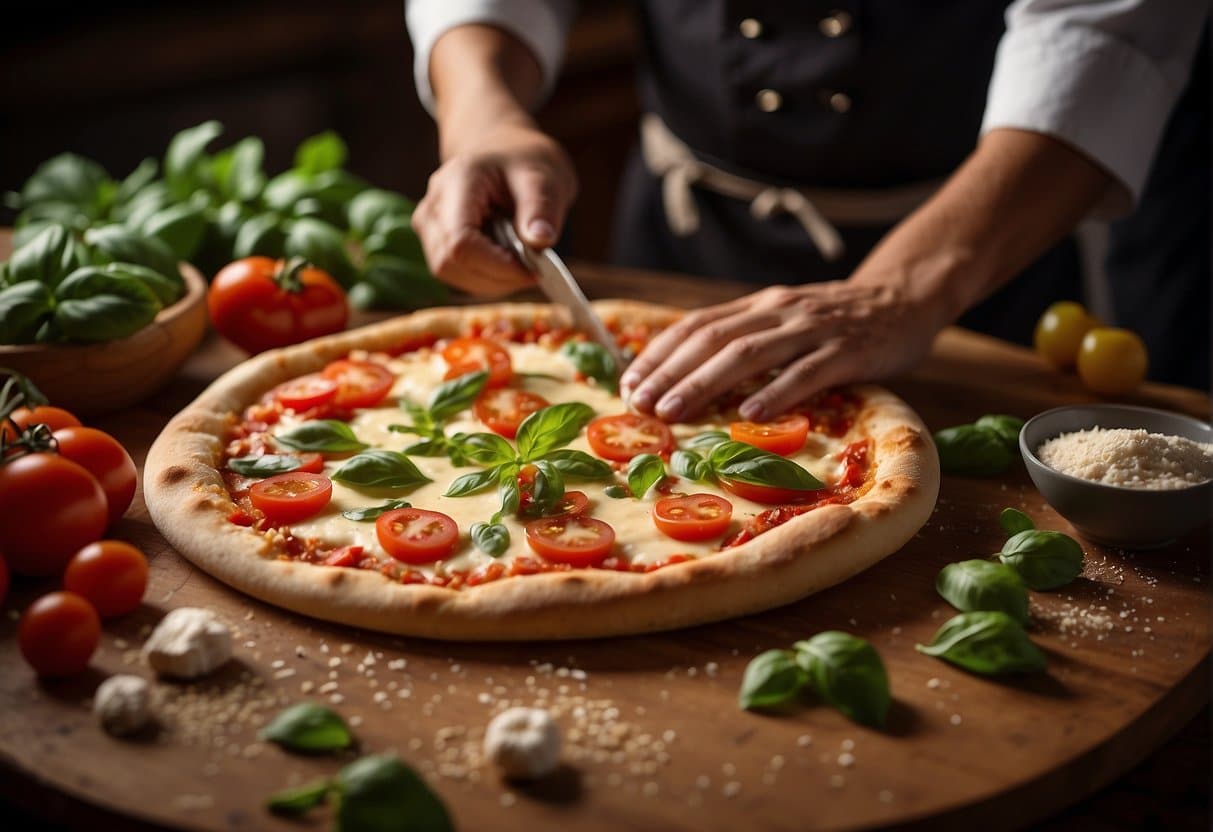
<path fill-rule="evenodd" d="M 831 629 L 793 645 L 813 689 L 844 717 L 884 728 L 893 697 L 881 655 L 861 638 Z"/>

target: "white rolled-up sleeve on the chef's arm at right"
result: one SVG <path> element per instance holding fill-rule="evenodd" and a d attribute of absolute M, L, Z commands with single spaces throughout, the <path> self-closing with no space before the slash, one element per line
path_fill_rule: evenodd
<path fill-rule="evenodd" d="M 1140 196 L 1208 17 L 1202 0 L 1018 0 L 1007 10 L 981 132 L 1059 138 L 1118 184 L 1097 213 Z"/>

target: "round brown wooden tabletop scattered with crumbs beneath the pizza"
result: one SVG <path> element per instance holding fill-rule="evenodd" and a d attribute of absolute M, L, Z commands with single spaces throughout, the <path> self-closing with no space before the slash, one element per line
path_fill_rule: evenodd
<path fill-rule="evenodd" d="M 744 291 L 620 269 L 579 274 L 598 297 L 699 306 Z M 239 358 L 211 338 L 159 395 L 95 422 L 142 463 L 165 421 Z M 944 332 L 915 374 L 889 386 L 933 429 L 1089 398 L 1031 353 L 959 330 Z M 1202 394 L 1178 388 L 1147 386 L 1133 400 L 1208 412 Z M 0 616 L 0 792 L 27 811 L 89 828 L 297 828 L 266 814 L 262 799 L 331 774 L 338 760 L 285 756 L 257 742 L 255 726 L 284 703 L 337 694 L 335 707 L 358 723 L 363 748 L 398 751 L 463 830 L 1030 824 L 1146 758 L 1207 701 L 1209 549 L 1207 532 L 1149 553 L 1087 543 L 1082 579 L 1033 593 L 1048 672 L 975 678 L 913 644 L 951 615 L 933 589 L 935 572 L 997 551 L 1003 506 L 1067 529 L 1020 467 L 989 480 L 945 477 L 935 514 L 901 552 L 801 603 L 667 634 L 457 645 L 309 621 L 239 595 L 173 553 L 136 498 L 115 534 L 149 554 L 152 583 L 141 610 L 106 625 L 87 676 L 38 683 L 17 655 L 13 615 L 45 587 L 17 586 Z M 238 628 L 235 661 L 197 685 L 156 685 L 163 725 L 154 736 L 106 736 L 85 701 L 109 673 L 146 674 L 138 644 L 181 605 L 210 606 Z M 895 699 L 887 733 L 813 705 L 781 716 L 738 711 L 751 656 L 827 628 L 881 651 Z M 499 700 L 542 701 L 562 714 L 566 765 L 556 777 L 507 787 L 478 764 Z M 598 746 L 608 723 L 627 735 Z M 326 824 L 323 811 L 303 822 Z"/>

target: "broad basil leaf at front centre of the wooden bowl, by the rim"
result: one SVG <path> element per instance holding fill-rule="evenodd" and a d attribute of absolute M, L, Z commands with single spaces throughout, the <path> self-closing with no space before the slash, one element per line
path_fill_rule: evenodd
<path fill-rule="evenodd" d="M 70 341 L 125 338 L 160 312 L 160 301 L 138 278 L 96 266 L 69 274 L 55 295 L 55 326 Z"/>

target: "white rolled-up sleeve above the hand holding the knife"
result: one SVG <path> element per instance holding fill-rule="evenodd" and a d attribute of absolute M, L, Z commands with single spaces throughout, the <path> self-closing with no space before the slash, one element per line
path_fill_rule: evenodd
<path fill-rule="evenodd" d="M 575 0 L 405 0 L 404 17 L 415 56 L 412 75 L 421 103 L 433 113 L 429 51 L 449 29 L 468 23 L 495 25 L 523 41 L 539 61 L 547 96 L 560 72 L 564 41 L 576 11 Z"/>

